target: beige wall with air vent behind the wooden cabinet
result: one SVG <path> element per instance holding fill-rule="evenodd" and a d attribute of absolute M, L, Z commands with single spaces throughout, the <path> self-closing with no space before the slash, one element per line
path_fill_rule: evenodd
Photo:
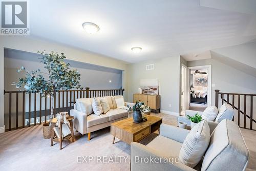
<path fill-rule="evenodd" d="M 146 65 L 153 63 L 155 69 L 146 70 Z M 133 101 L 133 94 L 138 93 L 140 79 L 159 79 L 162 112 L 179 113 L 180 56 L 133 63 L 128 71 L 128 101 Z"/>

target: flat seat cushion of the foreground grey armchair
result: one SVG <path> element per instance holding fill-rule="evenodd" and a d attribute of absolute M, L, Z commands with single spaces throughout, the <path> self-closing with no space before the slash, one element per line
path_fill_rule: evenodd
<path fill-rule="evenodd" d="M 159 152 L 161 157 L 179 157 L 181 145 L 178 141 L 159 135 L 146 146 Z"/>

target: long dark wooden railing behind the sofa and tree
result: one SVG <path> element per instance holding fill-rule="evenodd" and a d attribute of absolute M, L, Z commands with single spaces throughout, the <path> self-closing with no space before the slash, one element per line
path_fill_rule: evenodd
<path fill-rule="evenodd" d="M 34 95 L 31 96 L 32 93 L 28 93 L 27 91 L 4 91 L 4 95 L 9 94 L 9 96 L 5 96 L 9 97 L 7 100 L 7 102 L 9 102 L 9 112 L 6 113 L 9 114 L 9 116 L 7 115 L 9 117 L 9 126 L 8 123 L 5 124 L 7 128 L 6 131 L 47 122 L 52 105 L 55 116 L 58 112 L 73 109 L 74 102 L 77 98 L 123 95 L 123 91 L 124 89 L 90 90 L 90 88 L 83 90 L 60 90 L 54 94 L 53 101 L 52 98 L 47 98 L 46 94 L 44 98 L 41 98 L 41 93 L 34 93 Z M 13 102 L 14 99 L 16 99 L 15 102 Z M 28 101 L 27 110 L 26 101 Z M 20 106 L 22 106 L 22 108 Z"/>

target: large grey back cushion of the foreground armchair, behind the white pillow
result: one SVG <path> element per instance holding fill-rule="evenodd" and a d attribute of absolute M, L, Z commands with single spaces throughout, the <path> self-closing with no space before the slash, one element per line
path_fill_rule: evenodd
<path fill-rule="evenodd" d="M 210 136 L 201 170 L 244 170 L 249 158 L 239 126 L 222 120 Z"/>

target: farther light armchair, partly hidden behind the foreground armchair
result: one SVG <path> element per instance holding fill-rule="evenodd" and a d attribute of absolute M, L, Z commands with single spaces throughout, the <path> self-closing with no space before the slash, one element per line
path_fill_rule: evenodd
<path fill-rule="evenodd" d="M 194 116 L 196 114 L 199 114 L 199 115 L 202 116 L 203 112 L 186 110 L 185 111 L 185 116 L 178 116 L 177 123 L 185 122 L 185 123 L 187 123 L 187 125 L 190 126 L 190 120 L 187 119 L 186 115 Z M 220 110 L 218 111 L 218 115 L 217 115 L 217 117 L 214 121 L 215 122 L 221 122 L 224 119 L 232 120 L 233 117 L 234 117 L 234 110 L 233 110 L 232 106 L 230 104 L 223 103 Z"/>

